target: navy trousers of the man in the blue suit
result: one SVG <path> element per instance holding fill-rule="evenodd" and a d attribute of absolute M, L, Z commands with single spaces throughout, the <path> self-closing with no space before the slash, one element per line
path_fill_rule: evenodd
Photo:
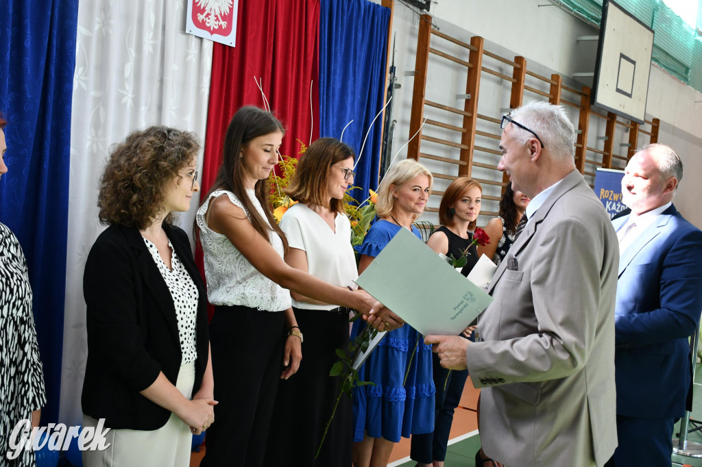
<path fill-rule="evenodd" d="M 675 419 L 616 416 L 619 445 L 605 467 L 670 467 Z"/>

